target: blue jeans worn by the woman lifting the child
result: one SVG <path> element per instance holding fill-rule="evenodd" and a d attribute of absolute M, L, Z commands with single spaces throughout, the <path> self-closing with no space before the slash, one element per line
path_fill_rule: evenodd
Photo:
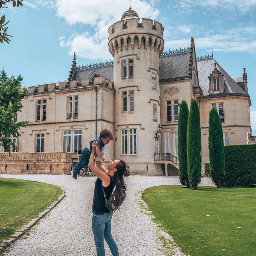
<path fill-rule="evenodd" d="M 97 214 L 93 212 L 92 231 L 96 245 L 97 256 L 105 256 L 103 238 L 108 243 L 109 249 L 113 256 L 119 256 L 118 248 L 114 238 L 111 235 L 111 219 L 113 212 Z"/>

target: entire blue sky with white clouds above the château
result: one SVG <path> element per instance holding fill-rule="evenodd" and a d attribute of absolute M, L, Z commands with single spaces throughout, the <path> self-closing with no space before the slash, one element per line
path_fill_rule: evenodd
<path fill-rule="evenodd" d="M 72 3 L 72 4 L 71 4 Z M 132 0 L 140 18 L 161 22 L 164 49 L 187 47 L 195 39 L 196 55 L 211 54 L 231 77 L 246 68 L 256 135 L 256 0 Z M 108 27 L 128 10 L 128 0 L 24 0 L 2 9 L 12 42 L 0 45 L 0 68 L 24 76 L 30 86 L 68 78 L 73 54 L 79 65 L 112 60 Z M 2 16 L 1 15 L 1 16 Z"/>

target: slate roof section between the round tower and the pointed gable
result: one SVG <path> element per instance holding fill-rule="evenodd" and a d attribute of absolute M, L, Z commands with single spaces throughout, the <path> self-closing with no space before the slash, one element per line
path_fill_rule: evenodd
<path fill-rule="evenodd" d="M 189 52 L 161 56 L 159 69 L 160 80 L 189 76 Z"/>

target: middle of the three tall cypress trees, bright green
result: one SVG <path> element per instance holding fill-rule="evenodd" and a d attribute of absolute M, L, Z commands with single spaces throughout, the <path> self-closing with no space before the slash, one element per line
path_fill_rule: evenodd
<path fill-rule="evenodd" d="M 188 179 L 191 187 L 197 189 L 201 181 L 201 129 L 200 114 L 196 99 L 191 100 L 188 114 L 188 133 L 187 133 L 187 150 L 188 150 Z"/>

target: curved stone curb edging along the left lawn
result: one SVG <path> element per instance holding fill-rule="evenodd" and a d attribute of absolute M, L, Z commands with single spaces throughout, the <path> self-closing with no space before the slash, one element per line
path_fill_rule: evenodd
<path fill-rule="evenodd" d="M 59 187 L 59 186 L 57 186 Z M 53 202 L 49 207 L 47 207 L 43 212 L 40 212 L 37 217 L 31 219 L 26 223 L 22 228 L 20 228 L 17 232 L 14 232 L 14 234 L 10 237 L 4 240 L 2 243 L 0 243 L 0 254 L 4 252 L 4 250 L 13 244 L 16 240 L 21 238 L 30 228 L 32 228 L 39 220 L 41 220 L 48 212 L 50 212 L 57 204 L 60 203 L 60 201 L 65 197 L 65 191 L 59 187 L 62 190 L 61 196 L 58 197 L 58 199 Z"/>

